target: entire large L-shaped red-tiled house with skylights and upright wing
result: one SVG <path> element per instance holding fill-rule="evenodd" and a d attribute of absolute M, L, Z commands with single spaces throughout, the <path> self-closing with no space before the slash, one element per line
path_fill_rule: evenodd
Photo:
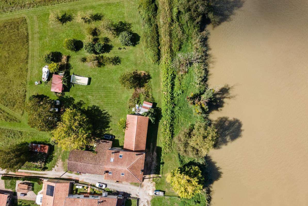
<path fill-rule="evenodd" d="M 148 117 L 128 114 L 124 148 L 115 148 L 112 141 L 101 141 L 91 151 L 73 150 L 68 157 L 68 170 L 103 175 L 106 180 L 143 181 Z"/>

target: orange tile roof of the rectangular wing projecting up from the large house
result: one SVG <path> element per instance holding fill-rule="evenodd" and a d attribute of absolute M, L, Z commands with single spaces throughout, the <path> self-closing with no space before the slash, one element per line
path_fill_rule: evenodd
<path fill-rule="evenodd" d="M 128 114 L 124 137 L 124 149 L 144 151 L 147 141 L 149 118 L 141 115 Z"/>

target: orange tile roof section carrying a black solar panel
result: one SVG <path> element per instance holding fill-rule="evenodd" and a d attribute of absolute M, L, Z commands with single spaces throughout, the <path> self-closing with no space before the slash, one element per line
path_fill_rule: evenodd
<path fill-rule="evenodd" d="M 71 182 L 66 180 L 45 181 L 42 206 L 63 206 L 70 184 Z"/>

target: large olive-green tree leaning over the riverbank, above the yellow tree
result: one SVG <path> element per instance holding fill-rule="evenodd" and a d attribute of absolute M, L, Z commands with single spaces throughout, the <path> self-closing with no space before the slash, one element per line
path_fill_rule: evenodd
<path fill-rule="evenodd" d="M 218 134 L 213 125 L 208 126 L 206 123 L 197 122 L 188 129 L 182 130 L 175 141 L 181 155 L 200 158 L 214 148 L 217 138 Z"/>

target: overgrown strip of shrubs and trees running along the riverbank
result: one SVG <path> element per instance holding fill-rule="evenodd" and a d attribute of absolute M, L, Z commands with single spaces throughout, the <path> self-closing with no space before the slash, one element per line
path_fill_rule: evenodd
<path fill-rule="evenodd" d="M 145 9 L 146 5 L 152 6 L 149 11 Z M 179 190 L 175 188 L 186 187 L 181 185 L 181 177 L 194 178 L 195 172 L 205 176 L 205 156 L 217 140 L 216 129 L 208 119 L 208 105 L 215 104 L 214 95 L 217 89 L 211 89 L 207 85 L 207 33 L 200 26 L 205 19 L 211 18 L 213 22 L 217 18 L 209 1 L 140 0 L 139 13 L 144 22 L 151 21 L 146 18 L 151 17 L 151 22 L 155 23 L 155 5 L 158 8 L 156 22 L 161 57 L 162 135 L 159 142 L 162 148 L 160 164 L 163 163 L 160 168 L 163 178 L 156 180 L 156 189 L 165 190 L 167 195 L 175 195 L 168 188 L 172 186 L 179 194 Z M 152 15 L 145 15 L 149 13 Z M 152 33 L 155 33 L 154 30 Z M 145 47 L 149 46 L 148 42 L 144 44 Z M 187 78 L 190 80 L 187 81 Z M 187 145 L 185 141 L 177 138 L 176 145 L 181 148 L 174 149 L 173 137 L 180 132 L 185 134 L 184 138 L 193 138 L 194 141 L 189 141 L 188 147 L 184 148 Z M 190 154 L 190 151 L 195 150 L 196 153 Z M 176 168 L 178 166 L 181 167 Z M 184 168 L 194 168 L 195 172 Z M 171 185 L 166 181 L 167 176 Z M 180 201 L 180 204 L 191 205 L 192 202 L 196 203 L 195 199 L 198 199 L 197 202 L 202 199 L 203 205 L 208 204 L 206 183 L 203 178 L 197 183 L 197 187 L 203 188 L 203 192 L 192 188 L 196 192 L 187 198 L 193 197 L 193 201 Z M 156 200 L 157 198 L 153 199 L 154 202 Z"/>

